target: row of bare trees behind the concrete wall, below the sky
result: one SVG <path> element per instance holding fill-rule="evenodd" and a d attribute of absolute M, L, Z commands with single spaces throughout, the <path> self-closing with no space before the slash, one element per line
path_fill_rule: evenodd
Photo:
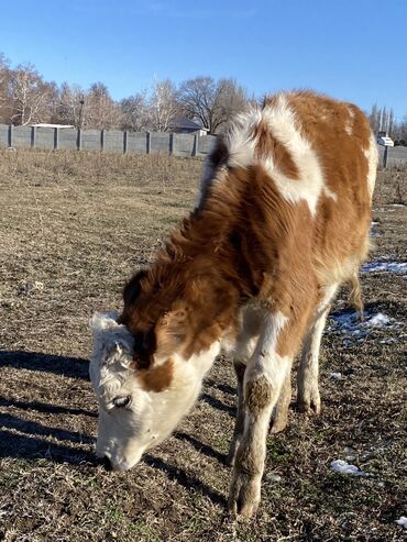
<path fill-rule="evenodd" d="M 94 82 L 88 89 L 46 81 L 32 64 L 12 67 L 0 53 L 0 123 L 29 125 L 68 124 L 80 129 L 172 131 L 179 118 L 196 121 L 216 134 L 237 112 L 256 101 L 234 79 L 195 77 L 176 86 L 155 79 L 150 90 L 113 100 L 108 87 Z M 372 107 L 374 132 L 386 131 L 396 144 L 407 145 L 407 115 L 396 122 L 393 109 Z"/>

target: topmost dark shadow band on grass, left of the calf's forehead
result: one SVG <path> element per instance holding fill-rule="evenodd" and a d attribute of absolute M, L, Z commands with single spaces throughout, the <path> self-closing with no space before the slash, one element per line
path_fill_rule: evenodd
<path fill-rule="evenodd" d="M 81 357 L 55 356 L 41 352 L 0 351 L 0 367 L 40 370 L 89 380 L 89 362 Z"/>

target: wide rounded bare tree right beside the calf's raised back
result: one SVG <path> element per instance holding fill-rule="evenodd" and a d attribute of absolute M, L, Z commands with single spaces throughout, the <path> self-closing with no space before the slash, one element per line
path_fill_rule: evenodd
<path fill-rule="evenodd" d="M 242 111 L 249 99 L 234 79 L 215 81 L 211 77 L 196 77 L 182 84 L 178 101 L 188 118 L 200 121 L 212 134 Z"/>

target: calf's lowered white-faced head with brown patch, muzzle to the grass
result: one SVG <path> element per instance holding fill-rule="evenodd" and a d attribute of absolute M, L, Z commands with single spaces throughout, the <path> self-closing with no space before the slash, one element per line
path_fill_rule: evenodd
<path fill-rule="evenodd" d="M 116 313 L 96 313 L 91 319 L 89 373 L 99 403 L 96 453 L 108 457 L 113 469 L 131 468 L 144 451 L 170 434 L 197 399 L 202 377 L 219 353 L 216 342 L 186 360 L 175 346 L 168 319 L 141 336 L 118 323 Z"/>

